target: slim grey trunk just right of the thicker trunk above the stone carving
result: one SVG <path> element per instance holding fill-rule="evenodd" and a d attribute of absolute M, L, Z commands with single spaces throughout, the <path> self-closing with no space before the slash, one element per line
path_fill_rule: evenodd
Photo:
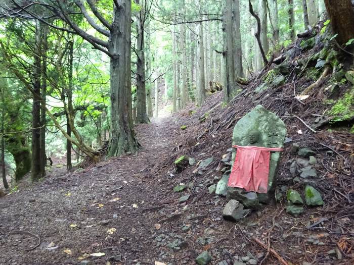
<path fill-rule="evenodd" d="M 240 24 L 240 0 L 233 0 L 232 4 L 232 25 L 234 37 L 234 66 L 235 75 L 243 77 L 242 69 L 242 42 L 241 42 L 241 24 Z M 267 10 L 265 10 L 265 19 L 267 21 Z M 267 36 L 266 36 L 267 40 Z M 268 41 L 267 41 L 268 43 Z"/>

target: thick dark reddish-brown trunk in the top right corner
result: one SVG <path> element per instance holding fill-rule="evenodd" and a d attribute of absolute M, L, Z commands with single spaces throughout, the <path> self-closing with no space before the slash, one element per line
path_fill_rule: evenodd
<path fill-rule="evenodd" d="M 339 45 L 354 38 L 354 11 L 350 0 L 325 0 L 325 5 Z"/>

